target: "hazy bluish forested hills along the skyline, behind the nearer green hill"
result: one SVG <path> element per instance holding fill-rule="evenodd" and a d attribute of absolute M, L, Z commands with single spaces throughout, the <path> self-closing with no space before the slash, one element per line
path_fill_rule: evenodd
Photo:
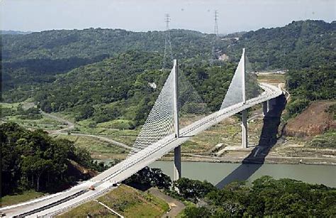
<path fill-rule="evenodd" d="M 246 47 L 255 70 L 318 67 L 335 59 L 335 29 L 335 22 L 293 21 L 281 28 L 221 35 L 215 40 L 215 48 L 218 55 L 227 54 L 230 62 L 237 62 L 242 47 Z M 89 28 L 1 35 L 4 101 L 23 101 L 59 74 L 78 71 L 108 57 L 118 59 L 130 51 L 155 55 L 159 69 L 164 34 Z M 171 30 L 174 58 L 191 66 L 208 63 L 213 37 L 192 30 Z"/>

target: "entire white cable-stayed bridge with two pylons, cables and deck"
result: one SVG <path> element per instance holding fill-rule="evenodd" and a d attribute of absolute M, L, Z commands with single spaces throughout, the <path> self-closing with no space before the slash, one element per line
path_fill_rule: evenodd
<path fill-rule="evenodd" d="M 113 184 L 132 176 L 173 149 L 174 180 L 177 180 L 181 177 L 183 142 L 225 118 L 242 112 L 242 147 L 246 148 L 247 108 L 262 103 L 266 114 L 274 105 L 274 98 L 282 94 L 281 89 L 275 86 L 257 83 L 243 50 L 220 109 L 211 112 L 183 72 L 179 72 L 177 60 L 174 60 L 174 67 L 124 161 L 69 190 L 0 210 L 9 217 L 50 217 L 103 195 L 114 188 Z M 94 185 L 95 190 L 89 190 L 91 185 Z"/>

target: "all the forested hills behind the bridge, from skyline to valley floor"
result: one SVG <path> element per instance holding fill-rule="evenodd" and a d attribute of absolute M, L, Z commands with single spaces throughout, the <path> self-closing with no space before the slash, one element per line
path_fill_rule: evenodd
<path fill-rule="evenodd" d="M 335 22 L 293 21 L 281 28 L 220 36 L 216 51 L 229 60 L 215 64 L 209 64 L 213 35 L 171 30 L 172 50 L 211 110 L 225 96 L 242 47 L 254 69 L 289 69 L 294 114 L 308 101 L 335 98 L 335 30 Z M 46 112 L 71 110 L 76 120 L 118 117 L 131 120 L 134 127 L 147 117 L 167 76 L 159 70 L 162 31 L 89 28 L 1 38 L 4 101 L 33 97 Z M 157 88 L 148 85 L 153 82 Z"/>

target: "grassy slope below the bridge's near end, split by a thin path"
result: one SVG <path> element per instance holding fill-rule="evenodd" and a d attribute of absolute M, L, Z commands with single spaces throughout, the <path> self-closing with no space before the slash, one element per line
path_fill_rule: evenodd
<path fill-rule="evenodd" d="M 126 185 L 120 185 L 115 190 L 99 197 L 98 200 L 124 217 L 161 217 L 169 210 L 167 202 Z M 115 217 L 94 201 L 75 207 L 59 217 L 86 217 L 87 214 L 93 217 Z"/>

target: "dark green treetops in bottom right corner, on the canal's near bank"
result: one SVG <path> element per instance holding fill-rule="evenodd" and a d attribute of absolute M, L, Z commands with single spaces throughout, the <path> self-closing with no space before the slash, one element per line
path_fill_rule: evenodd
<path fill-rule="evenodd" d="M 335 194 L 325 185 L 263 176 L 252 186 L 236 182 L 222 190 L 208 188 L 201 206 L 186 207 L 184 217 L 335 217 Z"/>

